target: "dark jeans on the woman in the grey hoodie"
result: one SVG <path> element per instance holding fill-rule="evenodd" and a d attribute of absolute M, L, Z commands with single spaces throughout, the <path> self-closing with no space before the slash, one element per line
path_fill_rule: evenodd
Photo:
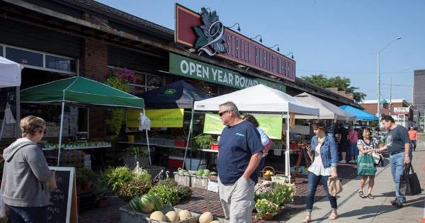
<path fill-rule="evenodd" d="M 11 223 L 47 223 L 47 206 L 43 207 L 9 207 Z"/>

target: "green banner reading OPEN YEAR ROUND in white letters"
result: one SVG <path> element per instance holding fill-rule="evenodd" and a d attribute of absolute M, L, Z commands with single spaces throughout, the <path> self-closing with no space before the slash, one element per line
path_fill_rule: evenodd
<path fill-rule="evenodd" d="M 222 67 L 200 62 L 196 59 L 182 57 L 170 52 L 169 72 L 191 79 L 198 79 L 210 83 L 221 84 L 233 88 L 248 88 L 257 84 L 263 84 L 279 91 L 285 92 L 283 84 L 273 83 L 263 79 L 251 79 L 238 72 Z"/>

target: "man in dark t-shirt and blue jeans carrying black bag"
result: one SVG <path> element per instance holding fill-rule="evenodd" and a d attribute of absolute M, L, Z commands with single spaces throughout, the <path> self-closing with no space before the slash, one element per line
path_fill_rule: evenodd
<path fill-rule="evenodd" d="M 390 202 L 396 207 L 403 207 L 406 198 L 399 193 L 399 183 L 400 176 L 404 172 L 404 164 L 410 164 L 412 160 L 409 133 L 402 125 L 395 124 L 394 118 L 391 115 L 382 116 L 381 121 L 387 130 L 387 137 L 385 139 L 385 146 L 378 149 L 378 151 L 387 149 L 390 152 L 392 180 L 395 183 L 395 200 L 391 200 Z"/>

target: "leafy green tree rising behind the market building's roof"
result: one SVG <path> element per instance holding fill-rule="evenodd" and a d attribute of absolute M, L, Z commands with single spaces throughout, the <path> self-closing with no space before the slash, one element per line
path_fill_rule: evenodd
<path fill-rule="evenodd" d="M 356 91 L 358 89 L 357 87 L 350 86 L 351 80 L 346 77 L 327 77 L 324 74 L 315 74 L 312 76 L 301 76 L 301 79 L 310 82 L 311 84 L 320 86 L 322 88 L 338 88 L 338 91 L 352 93 L 354 103 L 360 103 L 366 97 L 365 93 Z"/>

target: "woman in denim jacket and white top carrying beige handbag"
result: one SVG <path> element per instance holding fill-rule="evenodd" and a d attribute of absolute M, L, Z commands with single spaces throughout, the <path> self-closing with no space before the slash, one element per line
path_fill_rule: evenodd
<path fill-rule="evenodd" d="M 336 212 L 336 197 L 329 194 L 327 188 L 327 180 L 330 177 L 334 178 L 338 176 L 336 173 L 336 166 L 338 166 L 338 150 L 333 137 L 329 136 L 325 132 L 326 127 L 322 121 L 317 121 L 313 125 L 314 137 L 312 137 L 311 147 L 307 147 L 307 152 L 312 157 L 313 163 L 308 168 L 310 171 L 308 175 L 308 191 L 306 195 L 306 215 L 303 223 L 308 223 L 312 220 L 312 208 L 314 202 L 314 195 L 316 193 L 317 185 L 322 182 L 324 193 L 326 193 L 331 202 L 331 215 L 329 220 L 338 218 L 338 212 Z"/>

